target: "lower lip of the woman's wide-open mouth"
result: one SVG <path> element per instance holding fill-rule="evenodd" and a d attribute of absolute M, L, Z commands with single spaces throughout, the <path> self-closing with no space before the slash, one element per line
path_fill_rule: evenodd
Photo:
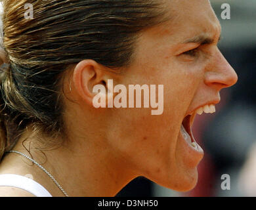
<path fill-rule="evenodd" d="M 186 162 L 186 165 L 188 165 L 188 167 L 193 167 L 193 168 L 197 167 L 198 163 L 200 163 L 200 161 L 203 158 L 203 149 L 198 143 L 196 143 L 193 135 L 192 137 L 190 136 L 190 138 L 192 139 L 192 142 L 196 143 L 196 148 L 192 146 L 190 142 L 187 142 L 184 139 L 181 131 L 179 132 L 179 138 L 181 138 L 182 150 L 184 152 L 183 155 L 184 155 L 184 160 Z"/>

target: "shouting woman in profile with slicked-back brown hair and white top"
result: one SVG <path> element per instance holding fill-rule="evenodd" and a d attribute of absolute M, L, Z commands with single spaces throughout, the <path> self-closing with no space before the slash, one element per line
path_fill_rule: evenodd
<path fill-rule="evenodd" d="M 209 1 L 3 6 L 1 196 L 115 196 L 139 176 L 194 188 L 203 158 L 194 116 L 215 112 L 219 91 L 237 81 Z M 117 95 L 109 81 L 163 85 L 163 113 L 95 108 L 96 85 L 108 103 Z"/>

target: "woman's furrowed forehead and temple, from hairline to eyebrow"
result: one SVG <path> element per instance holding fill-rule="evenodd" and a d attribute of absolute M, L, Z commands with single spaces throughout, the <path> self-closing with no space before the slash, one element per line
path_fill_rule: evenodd
<path fill-rule="evenodd" d="M 138 62 L 156 62 L 182 53 L 190 41 L 219 40 L 221 26 L 208 0 L 165 0 L 163 5 L 169 19 L 140 33 L 135 56 Z"/>

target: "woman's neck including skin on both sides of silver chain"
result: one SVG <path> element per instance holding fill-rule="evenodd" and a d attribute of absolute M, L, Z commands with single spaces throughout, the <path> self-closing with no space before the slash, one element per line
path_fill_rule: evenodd
<path fill-rule="evenodd" d="M 85 142 L 86 146 L 81 145 Z M 121 188 L 137 176 L 129 170 L 131 168 L 129 164 L 124 159 L 114 156 L 115 153 L 106 145 L 97 145 L 95 142 L 100 142 L 99 140 L 92 142 L 84 139 L 72 142 L 64 140 L 62 146 L 43 152 L 35 149 L 40 146 L 38 144 L 34 146 L 33 140 L 25 141 L 24 144 L 26 148 L 30 147 L 32 158 L 53 175 L 68 196 L 115 196 Z M 22 140 L 16 144 L 14 150 L 30 156 L 22 146 Z M 21 156 L 10 156 L 9 161 L 20 158 Z M 33 167 L 31 165 L 31 163 L 24 164 L 25 168 L 21 168 L 23 173 L 33 174 L 35 180 L 50 189 L 53 196 L 62 195 L 49 176 L 41 169 L 35 169 L 35 165 Z M 18 171 L 16 170 L 15 173 Z"/>

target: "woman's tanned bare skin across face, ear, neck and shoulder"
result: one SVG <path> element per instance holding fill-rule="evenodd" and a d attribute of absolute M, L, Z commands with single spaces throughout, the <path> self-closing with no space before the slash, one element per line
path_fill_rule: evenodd
<path fill-rule="evenodd" d="M 219 102 L 219 91 L 238 77 L 217 47 L 221 26 L 209 1 L 166 1 L 165 6 L 173 18 L 141 33 L 134 60 L 122 74 L 83 60 L 66 75 L 64 91 L 74 101 L 65 100 L 69 138 L 45 151 L 46 162 L 33 150 L 36 137 L 26 141 L 27 146 L 32 142 L 33 158 L 45 162 L 69 196 L 115 196 L 140 175 L 173 190 L 196 185 L 203 154 L 193 155 L 181 137 L 182 120 L 200 106 Z M 198 37 L 207 40 L 190 43 Z M 94 108 L 93 87 L 107 79 L 126 87 L 163 84 L 163 114 L 152 116 L 148 108 Z M 26 152 L 21 141 L 31 132 L 24 133 L 15 150 Z M 0 173 L 31 173 L 53 196 L 62 196 L 41 169 L 16 154 L 3 160 Z"/>

